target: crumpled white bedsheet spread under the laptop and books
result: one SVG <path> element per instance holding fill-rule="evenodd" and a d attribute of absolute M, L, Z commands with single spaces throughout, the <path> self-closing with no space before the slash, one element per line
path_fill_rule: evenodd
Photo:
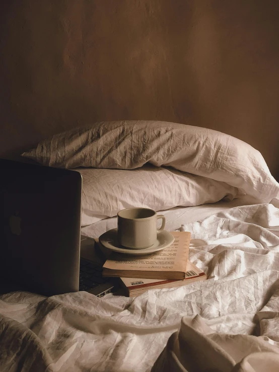
<path fill-rule="evenodd" d="M 229 360 L 227 369 L 220 370 L 272 370 L 256 369 L 265 364 L 253 359 L 255 352 L 261 362 L 275 360 L 276 368 L 278 207 L 277 200 L 238 206 L 184 225 L 192 234 L 190 260 L 208 275 L 203 282 L 150 290 L 134 299 L 111 294 L 98 299 L 87 292 L 48 298 L 27 292 L 3 295 L 0 370 L 150 371 L 170 336 L 156 372 L 186 366 L 210 370 L 218 351 Z M 205 341 L 191 345 L 189 332 Z M 171 352 L 172 342 L 176 348 Z M 176 365 L 168 369 L 170 355 Z"/>

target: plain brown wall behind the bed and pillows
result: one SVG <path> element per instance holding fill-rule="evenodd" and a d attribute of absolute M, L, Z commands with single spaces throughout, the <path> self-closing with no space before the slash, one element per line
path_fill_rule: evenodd
<path fill-rule="evenodd" d="M 99 120 L 211 127 L 279 170 L 279 2 L 2 2 L 0 156 Z"/>

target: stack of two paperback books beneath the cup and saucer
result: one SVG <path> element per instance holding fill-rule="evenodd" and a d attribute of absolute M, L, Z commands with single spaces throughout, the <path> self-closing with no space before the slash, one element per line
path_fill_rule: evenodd
<path fill-rule="evenodd" d="M 148 256 L 111 253 L 103 265 L 103 276 L 119 277 L 125 295 L 137 296 L 151 288 L 175 288 L 206 279 L 205 273 L 188 260 L 190 233 L 172 232 L 173 244 Z M 95 242 L 104 252 L 98 239 Z"/>

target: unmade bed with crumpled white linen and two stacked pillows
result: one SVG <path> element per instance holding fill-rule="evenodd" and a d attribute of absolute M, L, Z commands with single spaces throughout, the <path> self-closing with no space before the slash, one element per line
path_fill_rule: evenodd
<path fill-rule="evenodd" d="M 83 175 L 82 234 L 149 206 L 189 231 L 207 280 L 129 298 L 87 292 L 0 297 L 1 370 L 278 370 L 279 184 L 227 134 L 162 121 L 98 122 L 23 157 Z"/>

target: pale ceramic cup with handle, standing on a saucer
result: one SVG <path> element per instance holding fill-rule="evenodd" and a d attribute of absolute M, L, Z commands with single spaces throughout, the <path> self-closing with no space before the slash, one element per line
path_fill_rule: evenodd
<path fill-rule="evenodd" d="M 157 219 L 162 226 L 157 229 Z M 157 240 L 157 232 L 164 230 L 166 218 L 149 208 L 127 208 L 117 213 L 117 234 L 119 243 L 126 248 L 143 249 L 151 247 Z"/>

